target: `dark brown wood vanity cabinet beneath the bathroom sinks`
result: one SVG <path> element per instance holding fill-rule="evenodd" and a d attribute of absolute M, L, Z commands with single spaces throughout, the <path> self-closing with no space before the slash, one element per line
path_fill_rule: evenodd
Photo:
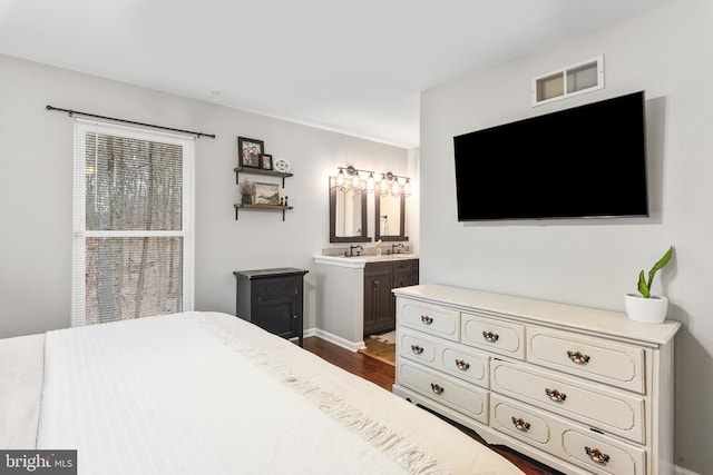
<path fill-rule="evenodd" d="M 395 328 L 395 297 L 391 289 L 418 283 L 418 259 L 365 264 L 364 337 Z"/>

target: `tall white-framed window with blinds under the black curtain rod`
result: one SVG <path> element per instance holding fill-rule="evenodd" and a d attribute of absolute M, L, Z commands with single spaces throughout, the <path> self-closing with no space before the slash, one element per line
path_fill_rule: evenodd
<path fill-rule="evenodd" d="M 193 309 L 194 145 L 76 120 L 72 326 Z"/>

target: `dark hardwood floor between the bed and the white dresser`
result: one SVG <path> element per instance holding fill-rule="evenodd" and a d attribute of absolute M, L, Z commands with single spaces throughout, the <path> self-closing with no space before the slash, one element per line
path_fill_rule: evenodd
<path fill-rule="evenodd" d="M 352 353 L 348 349 L 344 349 L 340 346 L 314 336 L 304 338 L 304 349 L 314 353 L 322 359 L 325 359 L 333 365 L 348 370 L 349 373 L 363 377 L 364 379 L 369 379 L 370 382 L 381 386 L 385 390 L 391 392 L 391 386 L 394 382 L 394 368 L 387 363 L 380 362 L 375 358 L 371 358 L 361 353 Z M 470 431 L 469 428 L 463 427 L 452 420 L 445 420 L 458 427 L 479 443 L 488 445 L 485 441 L 482 441 L 482 438 L 478 436 L 478 434 Z M 560 472 L 557 472 L 536 461 L 533 461 L 525 455 L 518 454 L 517 452 L 508 447 L 500 445 L 488 445 L 488 447 L 502 455 L 527 475 L 564 475 Z"/>

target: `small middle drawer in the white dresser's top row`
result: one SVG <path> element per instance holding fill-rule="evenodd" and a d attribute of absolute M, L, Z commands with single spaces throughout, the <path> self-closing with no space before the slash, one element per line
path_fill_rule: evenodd
<path fill-rule="evenodd" d="M 520 324 L 463 313 L 460 327 L 463 345 L 512 358 L 525 358 L 525 326 Z"/>

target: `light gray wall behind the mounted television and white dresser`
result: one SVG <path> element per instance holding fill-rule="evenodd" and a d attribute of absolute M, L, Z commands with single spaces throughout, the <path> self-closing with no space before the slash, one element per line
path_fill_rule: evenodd
<path fill-rule="evenodd" d="M 712 26 L 710 1 L 681 1 L 421 96 L 421 281 L 624 311 L 638 270 L 676 247 L 654 290 L 684 325 L 671 388 L 675 457 L 700 474 L 713 473 Z M 530 78 L 602 53 L 605 89 L 530 107 Z M 651 218 L 458 222 L 453 136 L 642 89 Z"/>

